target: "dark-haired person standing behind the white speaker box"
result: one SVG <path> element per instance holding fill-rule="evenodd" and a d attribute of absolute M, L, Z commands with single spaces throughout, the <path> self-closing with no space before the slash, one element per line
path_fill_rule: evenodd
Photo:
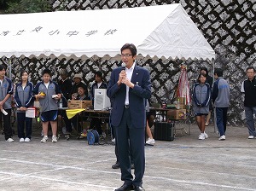
<path fill-rule="evenodd" d="M 90 90 L 90 100 L 92 101 L 92 105 L 94 105 L 95 90 L 108 88 L 108 84 L 103 82 L 102 77 L 103 77 L 102 72 L 98 71 L 95 73 L 95 83 L 92 84 L 91 90 Z M 94 129 L 94 128 L 96 128 L 99 135 L 102 136 L 102 120 L 101 119 L 98 119 L 98 118 L 90 119 L 90 129 Z"/>

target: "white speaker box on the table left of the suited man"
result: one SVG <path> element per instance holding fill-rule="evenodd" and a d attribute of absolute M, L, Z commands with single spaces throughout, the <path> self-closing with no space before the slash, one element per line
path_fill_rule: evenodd
<path fill-rule="evenodd" d="M 105 110 L 110 107 L 110 100 L 106 89 L 95 89 L 94 92 L 94 110 Z"/>

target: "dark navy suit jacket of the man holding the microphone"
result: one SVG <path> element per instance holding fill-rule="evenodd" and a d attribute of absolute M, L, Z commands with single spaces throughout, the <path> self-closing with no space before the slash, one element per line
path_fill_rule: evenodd
<path fill-rule="evenodd" d="M 111 113 L 113 126 L 119 126 L 125 108 L 126 85 L 117 84 L 119 72 L 122 69 L 123 67 L 118 67 L 113 70 L 107 90 L 108 97 L 113 101 Z M 145 99 L 150 99 L 151 96 L 151 82 L 148 70 L 135 66 L 131 76 L 131 83 L 134 84 L 134 88 L 129 90 L 131 124 L 135 128 L 144 128 L 146 126 Z"/>

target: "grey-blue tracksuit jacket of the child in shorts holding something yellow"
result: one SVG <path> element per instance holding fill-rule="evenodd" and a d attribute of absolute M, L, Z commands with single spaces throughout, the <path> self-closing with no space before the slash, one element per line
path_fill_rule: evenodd
<path fill-rule="evenodd" d="M 48 112 L 51 110 L 58 110 L 57 101 L 55 101 L 52 96 L 61 94 L 60 86 L 53 81 L 49 81 L 49 86 L 47 89 L 44 82 L 39 82 L 33 90 L 33 95 L 37 95 L 40 91 L 43 91 L 46 95 L 43 99 L 39 99 L 40 111 Z"/>

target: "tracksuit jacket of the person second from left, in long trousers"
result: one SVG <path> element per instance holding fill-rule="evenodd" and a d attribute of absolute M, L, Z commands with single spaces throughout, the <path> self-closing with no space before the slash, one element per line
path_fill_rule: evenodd
<path fill-rule="evenodd" d="M 15 89 L 15 104 L 16 107 L 31 107 L 34 101 L 33 95 L 33 84 L 31 82 L 26 83 L 26 87 L 22 88 L 22 83 L 16 84 Z M 25 113 L 25 111 L 17 110 L 17 113 Z"/>

